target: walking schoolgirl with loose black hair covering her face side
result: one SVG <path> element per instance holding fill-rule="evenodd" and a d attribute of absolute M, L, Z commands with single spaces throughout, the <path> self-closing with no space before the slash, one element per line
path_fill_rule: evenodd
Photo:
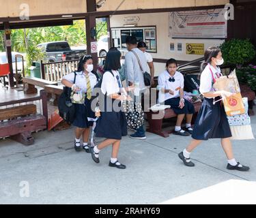
<path fill-rule="evenodd" d="M 127 136 L 126 116 L 121 108 L 121 101 L 130 99 L 127 95 L 121 95 L 123 87 L 118 72 L 120 67 L 121 52 L 111 49 L 106 55 L 101 91 L 105 95 L 104 110 L 96 125 L 96 137 L 106 138 L 103 142 L 91 148 L 91 157 L 96 163 L 100 163 L 99 153 L 106 146 L 112 145 L 110 167 L 125 169 L 124 164 L 119 163 L 117 156 L 123 136 Z M 130 87 L 126 91 L 130 91 Z M 111 108 L 109 108 L 109 102 Z M 115 108 L 117 106 L 117 108 Z M 111 110 L 109 110 L 111 109 Z"/>

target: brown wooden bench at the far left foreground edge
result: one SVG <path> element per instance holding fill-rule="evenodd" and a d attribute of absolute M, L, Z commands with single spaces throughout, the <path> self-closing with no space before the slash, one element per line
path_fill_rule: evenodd
<path fill-rule="evenodd" d="M 42 100 L 43 114 L 37 114 L 34 104 L 9 107 L 38 100 Z M 31 133 L 47 128 L 47 97 L 44 90 L 40 91 L 40 96 L 2 102 L 0 106 L 7 106 L 7 108 L 0 110 L 0 138 L 10 137 L 22 144 L 31 145 L 34 142 Z"/>

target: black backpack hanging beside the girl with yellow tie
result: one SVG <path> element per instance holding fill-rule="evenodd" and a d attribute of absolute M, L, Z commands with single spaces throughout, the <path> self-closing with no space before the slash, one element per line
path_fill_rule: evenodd
<path fill-rule="evenodd" d="M 76 83 L 76 72 L 74 72 L 73 83 Z M 63 87 L 63 92 L 59 96 L 58 100 L 59 116 L 61 116 L 69 125 L 74 122 L 74 119 L 76 117 L 76 109 L 70 99 L 71 93 L 71 88 Z"/>

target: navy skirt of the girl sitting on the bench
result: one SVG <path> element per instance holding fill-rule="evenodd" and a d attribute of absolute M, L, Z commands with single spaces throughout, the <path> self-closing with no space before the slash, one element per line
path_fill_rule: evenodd
<path fill-rule="evenodd" d="M 195 114 L 195 107 L 192 103 L 188 102 L 185 99 L 184 108 L 179 108 L 180 106 L 180 97 L 175 97 L 171 99 L 167 99 L 165 101 L 165 105 L 171 106 L 171 109 L 175 112 L 175 114 Z"/>

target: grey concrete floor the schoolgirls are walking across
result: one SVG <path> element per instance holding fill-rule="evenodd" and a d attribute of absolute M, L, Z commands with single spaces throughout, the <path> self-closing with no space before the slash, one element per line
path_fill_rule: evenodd
<path fill-rule="evenodd" d="M 256 136 L 256 116 L 252 127 Z M 119 161 L 127 169 L 118 170 L 108 166 L 111 148 L 100 153 L 98 165 L 89 154 L 76 153 L 73 131 L 33 134 L 33 146 L 0 140 L 0 204 L 168 204 L 176 197 L 230 180 L 256 181 L 255 140 L 233 142 L 236 159 L 251 171 L 230 172 L 225 169 L 220 140 L 201 144 L 192 155 L 196 167 L 186 168 L 177 153 L 190 137 L 161 138 L 149 133 L 145 141 L 126 137 Z M 250 192 L 246 193 L 242 198 L 251 198 Z M 256 198 L 253 200 L 256 203 Z"/>

